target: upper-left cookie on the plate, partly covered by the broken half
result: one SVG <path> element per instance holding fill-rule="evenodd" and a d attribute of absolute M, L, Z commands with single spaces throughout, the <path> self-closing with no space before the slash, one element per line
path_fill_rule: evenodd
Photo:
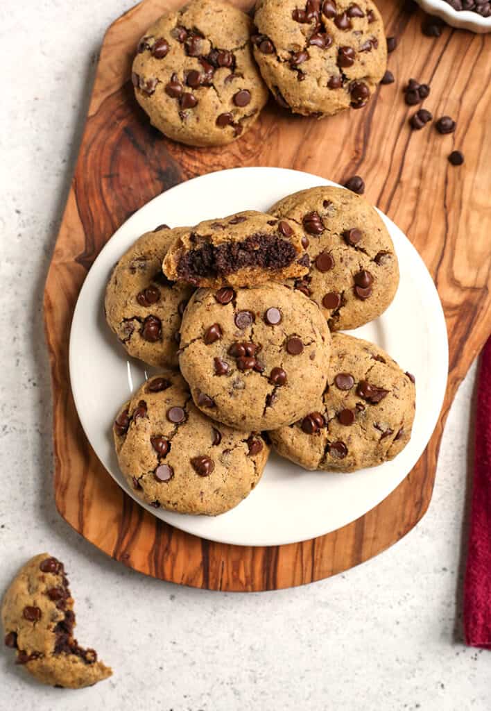
<path fill-rule="evenodd" d="M 150 365 L 176 368 L 180 319 L 193 288 L 173 284 L 162 272 L 172 242 L 187 228 L 161 225 L 136 240 L 122 256 L 106 289 L 109 327 L 129 355 Z"/>

